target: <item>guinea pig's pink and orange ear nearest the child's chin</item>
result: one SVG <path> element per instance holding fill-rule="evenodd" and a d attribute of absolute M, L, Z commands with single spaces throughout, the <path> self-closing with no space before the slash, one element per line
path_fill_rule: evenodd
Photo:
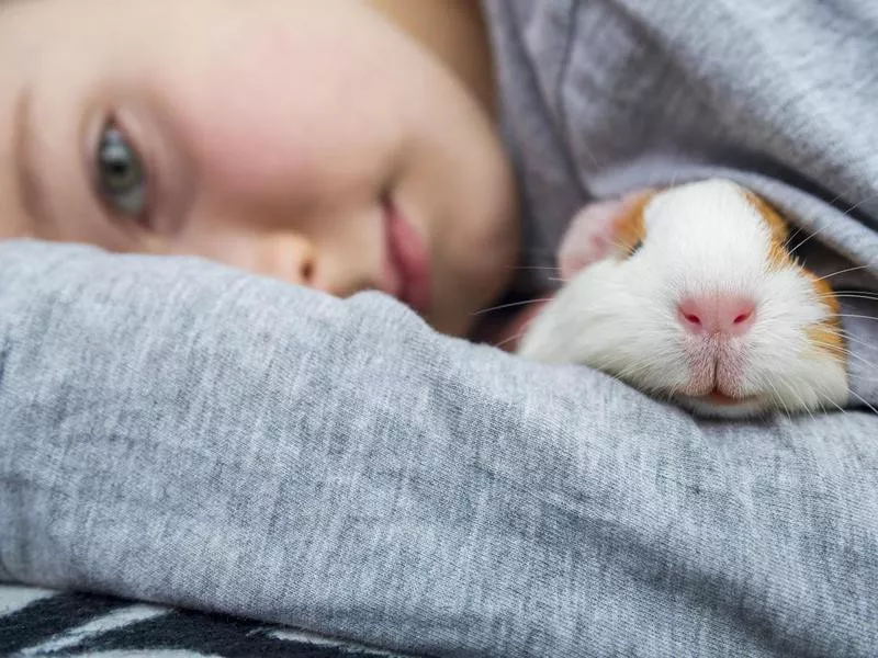
<path fill-rule="evenodd" d="M 624 258 L 645 238 L 643 211 L 654 190 L 628 194 L 618 201 L 601 201 L 583 207 L 571 222 L 558 252 L 564 281 L 606 258 Z"/>

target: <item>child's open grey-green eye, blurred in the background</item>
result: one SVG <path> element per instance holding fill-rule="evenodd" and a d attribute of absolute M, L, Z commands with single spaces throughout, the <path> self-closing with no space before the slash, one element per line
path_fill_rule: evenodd
<path fill-rule="evenodd" d="M 112 122 L 98 141 L 94 169 L 98 192 L 109 208 L 142 219 L 147 209 L 146 171 L 140 156 Z"/>

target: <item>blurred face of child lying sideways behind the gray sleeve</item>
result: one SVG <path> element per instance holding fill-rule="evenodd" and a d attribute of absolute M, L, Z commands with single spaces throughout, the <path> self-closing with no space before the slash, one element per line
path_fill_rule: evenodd
<path fill-rule="evenodd" d="M 488 117 L 362 2 L 25 0 L 0 63 L 0 236 L 385 290 L 450 333 L 509 279 Z"/>

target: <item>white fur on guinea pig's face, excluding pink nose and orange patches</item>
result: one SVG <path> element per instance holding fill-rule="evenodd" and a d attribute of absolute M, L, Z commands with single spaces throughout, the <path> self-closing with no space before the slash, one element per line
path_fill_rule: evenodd
<path fill-rule="evenodd" d="M 845 364 L 806 336 L 830 308 L 798 265 L 769 266 L 770 228 L 743 189 L 711 180 L 661 192 L 644 222 L 643 247 L 576 274 L 531 324 L 519 353 L 600 368 L 709 416 L 846 402 Z M 752 298 L 751 331 L 688 333 L 677 304 L 702 294 Z M 702 396 L 717 385 L 746 401 L 711 404 Z"/>

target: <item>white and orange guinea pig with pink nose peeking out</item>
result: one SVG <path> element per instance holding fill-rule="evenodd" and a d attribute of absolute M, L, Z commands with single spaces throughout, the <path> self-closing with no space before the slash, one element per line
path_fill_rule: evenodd
<path fill-rule="evenodd" d="M 788 237 L 767 203 L 720 179 L 588 206 L 559 253 L 565 284 L 518 352 L 703 416 L 841 407 L 838 303 Z"/>

